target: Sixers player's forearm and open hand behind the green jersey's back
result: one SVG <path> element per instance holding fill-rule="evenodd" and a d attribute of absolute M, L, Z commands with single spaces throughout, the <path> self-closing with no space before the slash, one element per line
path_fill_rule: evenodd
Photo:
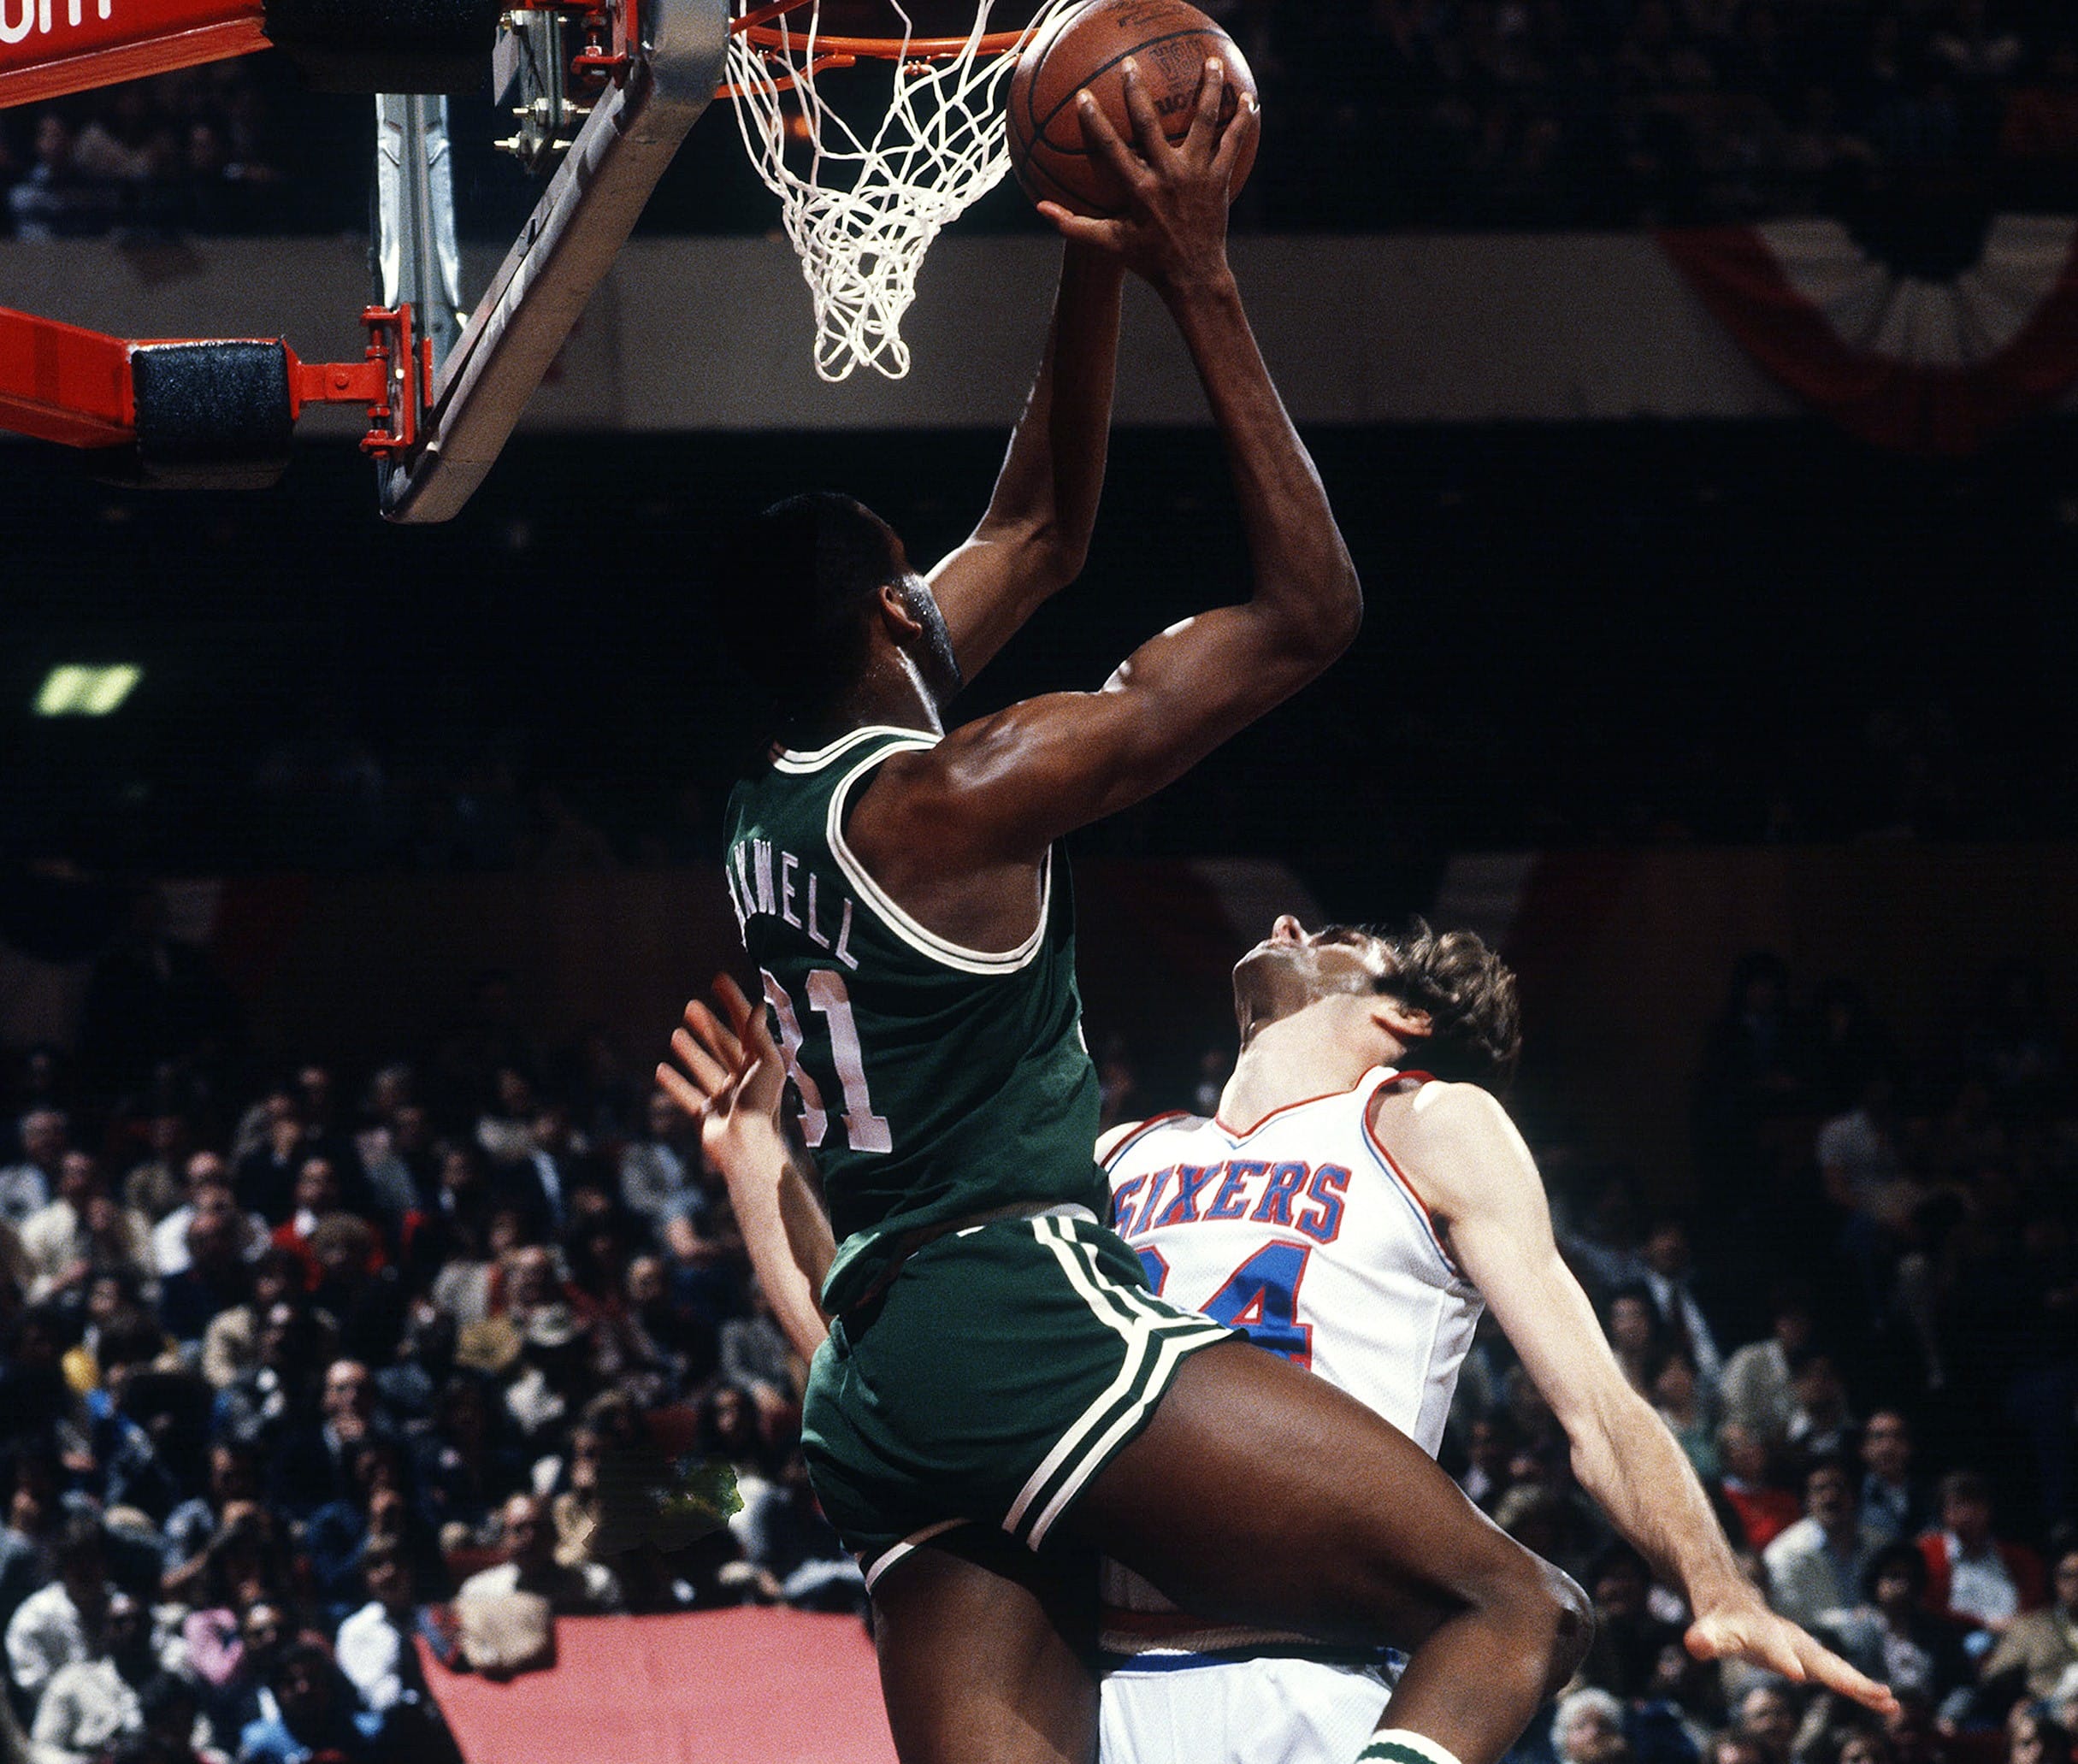
<path fill-rule="evenodd" d="M 821 1290 L 837 1245 L 810 1172 L 779 1124 L 785 1064 L 765 1010 L 727 974 L 715 981 L 715 997 L 729 1022 L 692 999 L 684 1024 L 671 1031 L 680 1064 L 661 1064 L 657 1083 L 700 1124 L 700 1149 L 729 1184 L 736 1224 L 773 1315 L 794 1351 L 812 1359 L 829 1334 Z"/>

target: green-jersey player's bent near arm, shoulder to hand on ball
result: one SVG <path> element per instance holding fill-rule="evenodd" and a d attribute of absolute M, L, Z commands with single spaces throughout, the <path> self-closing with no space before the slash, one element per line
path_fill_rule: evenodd
<path fill-rule="evenodd" d="M 1130 212 L 1120 220 L 1047 212 L 1070 239 L 1143 274 L 1174 314 L 1226 443 L 1253 590 L 1238 607 L 1145 642 L 1101 692 L 1033 698 L 964 725 L 929 754 L 889 760 L 883 771 L 898 790 L 881 802 L 871 792 L 854 823 L 877 875 L 883 860 L 904 866 L 904 854 L 962 866 L 1033 860 L 1060 833 L 1180 777 L 1320 675 L 1357 634 L 1355 565 L 1226 262 L 1228 185 L 1257 114 L 1243 106 L 1222 131 L 1220 93 L 1211 62 L 1193 127 L 1170 145 L 1147 93 L 1128 79 L 1137 152 L 1085 102 L 1087 137 L 1130 187 Z M 900 806 L 889 812 L 891 798 Z"/>

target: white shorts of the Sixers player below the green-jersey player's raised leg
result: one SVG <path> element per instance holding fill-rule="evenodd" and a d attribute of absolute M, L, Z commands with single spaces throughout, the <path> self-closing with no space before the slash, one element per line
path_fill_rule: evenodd
<path fill-rule="evenodd" d="M 1120 1668 L 1103 1681 L 1103 1764 L 1349 1764 L 1386 1685 L 1317 1660 Z"/>

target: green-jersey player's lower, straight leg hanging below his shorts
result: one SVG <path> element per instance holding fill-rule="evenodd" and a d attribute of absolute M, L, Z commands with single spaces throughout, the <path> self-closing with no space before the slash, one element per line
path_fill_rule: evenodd
<path fill-rule="evenodd" d="M 873 1587 L 902 1764 L 1093 1764 L 1095 1560 L 991 1527 L 921 1544 Z"/>

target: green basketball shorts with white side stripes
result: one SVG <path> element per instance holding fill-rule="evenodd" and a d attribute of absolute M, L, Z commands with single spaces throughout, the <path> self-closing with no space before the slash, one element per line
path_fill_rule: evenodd
<path fill-rule="evenodd" d="M 817 1351 L 802 1409 L 815 1492 L 869 1587 L 956 1525 L 1037 1550 L 1184 1355 L 1238 1338 L 1157 1299 L 1087 1207 L 948 1232 Z"/>

